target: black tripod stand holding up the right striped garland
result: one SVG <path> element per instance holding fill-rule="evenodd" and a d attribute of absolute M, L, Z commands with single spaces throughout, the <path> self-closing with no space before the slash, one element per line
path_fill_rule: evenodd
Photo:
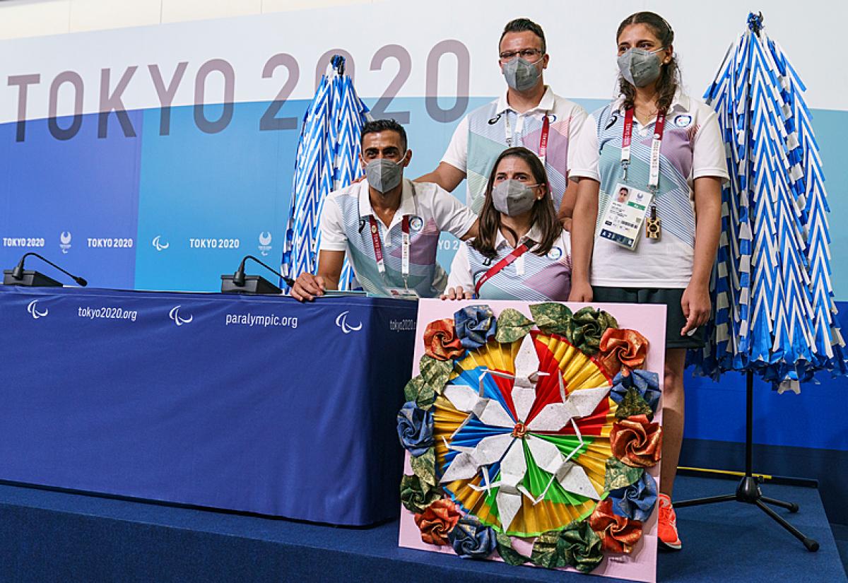
<path fill-rule="evenodd" d="M 809 536 L 806 536 L 801 530 L 790 525 L 782 516 L 769 508 L 767 504 L 786 508 L 789 512 L 798 512 L 798 504 L 795 502 L 784 502 L 775 500 L 774 498 L 762 495 L 760 490 L 760 481 L 762 478 L 757 478 L 753 475 L 751 466 L 753 465 L 753 429 L 754 429 L 754 373 L 750 370 L 745 372 L 745 476 L 739 480 L 739 486 L 736 486 L 734 494 L 723 494 L 722 496 L 711 496 L 706 498 L 695 498 L 694 500 L 684 500 L 683 502 L 674 502 L 675 508 L 683 508 L 686 506 L 701 506 L 704 504 L 715 504 L 717 502 L 745 502 L 748 504 L 756 504 L 764 513 L 771 519 L 789 530 L 792 536 L 795 536 L 799 541 L 804 543 L 806 550 L 816 552 L 818 550 L 818 542 L 814 541 Z"/>

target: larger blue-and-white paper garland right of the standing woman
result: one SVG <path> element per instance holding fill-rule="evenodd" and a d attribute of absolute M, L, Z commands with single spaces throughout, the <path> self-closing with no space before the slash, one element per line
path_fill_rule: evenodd
<path fill-rule="evenodd" d="M 817 370 L 845 375 L 845 342 L 830 282 L 822 161 L 801 78 L 762 15 L 728 48 L 706 92 L 727 146 L 722 235 L 707 346 L 690 353 L 717 379 L 752 370 L 798 388 Z"/>

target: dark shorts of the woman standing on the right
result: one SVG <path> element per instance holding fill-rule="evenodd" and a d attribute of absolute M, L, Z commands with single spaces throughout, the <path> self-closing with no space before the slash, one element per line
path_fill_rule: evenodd
<path fill-rule="evenodd" d="M 686 325 L 683 308 L 680 306 L 683 288 L 593 286 L 592 291 L 595 302 L 664 304 L 666 306 L 666 347 L 704 347 L 704 326 L 697 328 L 692 336 L 680 336 L 680 330 Z"/>

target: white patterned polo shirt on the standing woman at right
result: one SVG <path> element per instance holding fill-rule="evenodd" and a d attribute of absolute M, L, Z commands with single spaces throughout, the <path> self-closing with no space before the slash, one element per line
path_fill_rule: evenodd
<path fill-rule="evenodd" d="M 660 180 L 653 200 L 657 217 L 661 219 L 661 237 L 647 238 L 642 225 L 636 248 L 630 250 L 599 237 L 598 233 L 616 185 L 650 191 L 650 147 L 656 118 L 641 125 L 633 117 L 630 165 L 627 180 L 623 180 L 622 102 L 623 99 L 618 99 L 590 114 L 587 131 L 575 147 L 572 176 L 600 182 L 591 284 L 684 288 L 689 286 L 695 258 L 695 179 L 702 176 L 728 179 L 716 113 L 683 94 L 675 96 L 666 115 L 660 147 Z"/>

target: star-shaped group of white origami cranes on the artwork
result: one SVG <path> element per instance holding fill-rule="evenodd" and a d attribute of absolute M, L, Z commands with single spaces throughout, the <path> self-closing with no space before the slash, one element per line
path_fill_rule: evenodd
<path fill-rule="evenodd" d="M 568 396 L 563 385 L 562 372 L 558 370 L 562 403 L 545 405 L 527 424 L 527 414 L 530 413 L 530 409 L 533 408 L 533 403 L 536 401 L 538 376 L 548 374 L 538 370 L 538 355 L 535 347 L 533 347 L 533 339 L 530 335 L 524 337 L 522 346 L 516 355 L 515 364 L 515 375 L 485 369 L 480 376 L 479 391 L 474 391 L 471 386 L 467 385 L 449 384 L 444 387 L 444 397 L 450 403 L 453 403 L 455 408 L 469 414 L 454 435 L 472 417 L 477 417 L 485 425 L 512 428 L 511 433 L 484 437 L 475 447 L 450 446 L 445 440 L 447 447 L 460 453 L 451 462 L 441 479 L 441 483 L 469 480 L 478 471 L 481 472 L 485 486 L 471 487 L 485 491 L 499 487 L 496 500 L 500 524 L 504 530 L 509 530 L 512 520 L 515 519 L 516 514 L 521 509 L 522 494 L 532 500 L 533 504 L 538 504 L 544 499 L 554 480 L 557 480 L 566 491 L 572 491 L 594 500 L 600 499 L 583 468 L 570 460 L 583 446 L 583 437 L 577 429 L 575 419 L 591 414 L 610 391 L 609 386 L 599 386 L 593 389 L 573 391 Z M 512 388 L 512 402 L 516 408 L 516 418 L 520 419 L 517 423 L 498 401 L 483 397 L 483 378 L 486 374 L 515 379 Z M 568 423 L 571 423 L 574 427 L 579 445 L 567 456 L 563 456 L 560 450 L 550 441 L 544 441 L 530 435 L 530 432 L 556 432 Z M 548 485 L 539 497 L 533 497 L 527 491 L 527 488 L 520 483 L 527 473 L 527 461 L 524 458 L 522 440 L 527 443 L 527 447 L 533 454 L 533 459 L 538 467 L 551 474 Z M 496 462 L 500 462 L 500 480 L 492 483 L 489 482 L 488 466 Z"/>

